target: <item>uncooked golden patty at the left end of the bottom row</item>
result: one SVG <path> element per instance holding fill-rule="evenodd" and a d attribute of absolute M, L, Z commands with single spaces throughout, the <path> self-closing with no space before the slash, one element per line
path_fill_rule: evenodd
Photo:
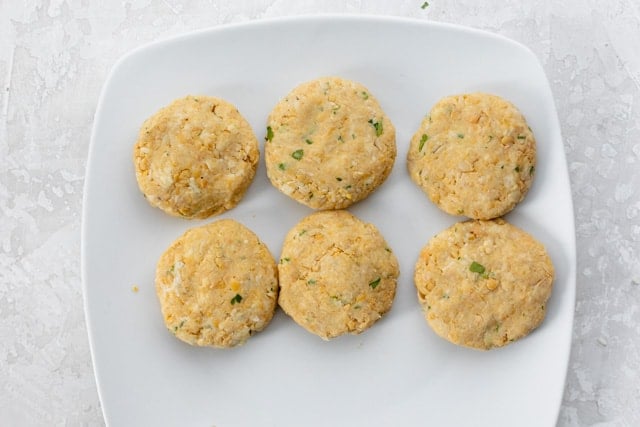
<path fill-rule="evenodd" d="M 188 230 L 167 249 L 156 268 L 156 292 L 177 338 L 234 347 L 271 321 L 276 263 L 251 230 L 223 219 Z"/>

